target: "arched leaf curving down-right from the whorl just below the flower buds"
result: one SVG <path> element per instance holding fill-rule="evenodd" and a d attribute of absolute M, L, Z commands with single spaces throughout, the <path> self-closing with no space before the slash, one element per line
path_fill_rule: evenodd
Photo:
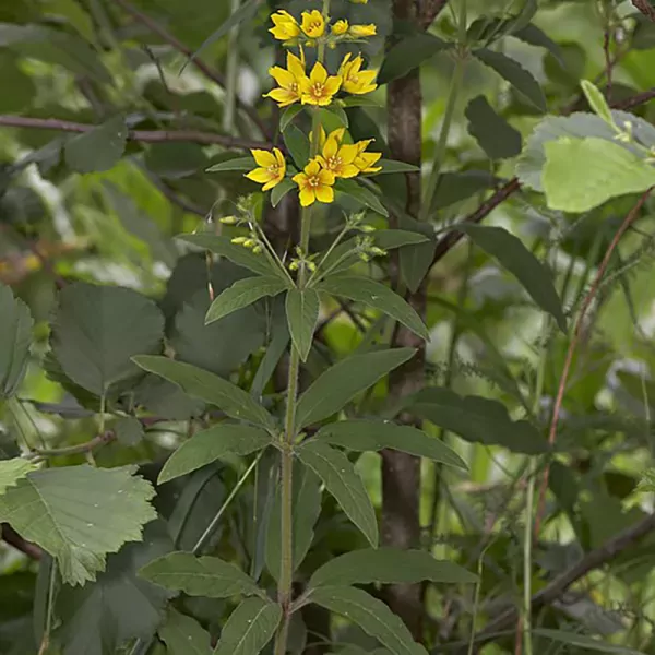
<path fill-rule="evenodd" d="M 319 291 L 364 302 L 402 323 L 418 336 L 430 341 L 430 333 L 415 309 L 383 284 L 359 275 L 330 275 L 317 287 Z"/>

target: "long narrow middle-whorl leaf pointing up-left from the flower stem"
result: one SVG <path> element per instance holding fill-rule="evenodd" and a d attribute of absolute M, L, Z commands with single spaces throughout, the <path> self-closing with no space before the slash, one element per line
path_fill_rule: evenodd
<path fill-rule="evenodd" d="M 273 417 L 261 405 L 242 389 L 218 376 L 167 357 L 143 355 L 133 359 L 142 369 L 177 384 L 190 396 L 216 405 L 231 418 L 275 429 Z"/>

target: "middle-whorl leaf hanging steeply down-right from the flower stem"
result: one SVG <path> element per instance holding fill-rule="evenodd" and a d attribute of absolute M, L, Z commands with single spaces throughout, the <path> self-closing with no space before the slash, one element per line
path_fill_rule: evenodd
<path fill-rule="evenodd" d="M 297 450 L 300 461 L 324 483 L 348 519 L 364 533 L 370 545 L 378 546 L 376 511 L 364 481 L 346 455 L 315 440 L 303 442 Z"/>

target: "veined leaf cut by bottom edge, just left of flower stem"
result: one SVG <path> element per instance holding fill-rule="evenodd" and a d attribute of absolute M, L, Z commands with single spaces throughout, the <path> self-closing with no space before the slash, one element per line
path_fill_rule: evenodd
<path fill-rule="evenodd" d="M 282 607 L 271 600 L 243 600 L 221 632 L 214 655 L 258 655 L 271 641 L 282 620 Z"/>

